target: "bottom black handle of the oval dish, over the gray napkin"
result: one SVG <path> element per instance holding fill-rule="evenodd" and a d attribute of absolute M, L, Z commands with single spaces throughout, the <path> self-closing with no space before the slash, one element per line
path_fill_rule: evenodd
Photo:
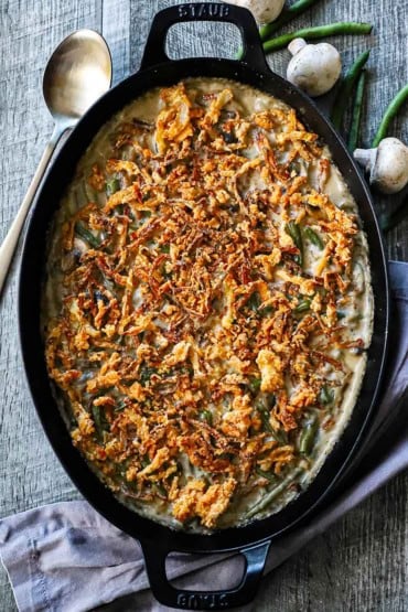
<path fill-rule="evenodd" d="M 141 541 L 141 546 L 150 587 L 160 603 L 181 610 L 228 610 L 245 605 L 255 598 L 270 540 L 238 550 L 246 561 L 244 576 L 236 588 L 225 591 L 189 591 L 173 587 L 165 573 L 165 559 L 170 550 L 153 541 Z"/>

